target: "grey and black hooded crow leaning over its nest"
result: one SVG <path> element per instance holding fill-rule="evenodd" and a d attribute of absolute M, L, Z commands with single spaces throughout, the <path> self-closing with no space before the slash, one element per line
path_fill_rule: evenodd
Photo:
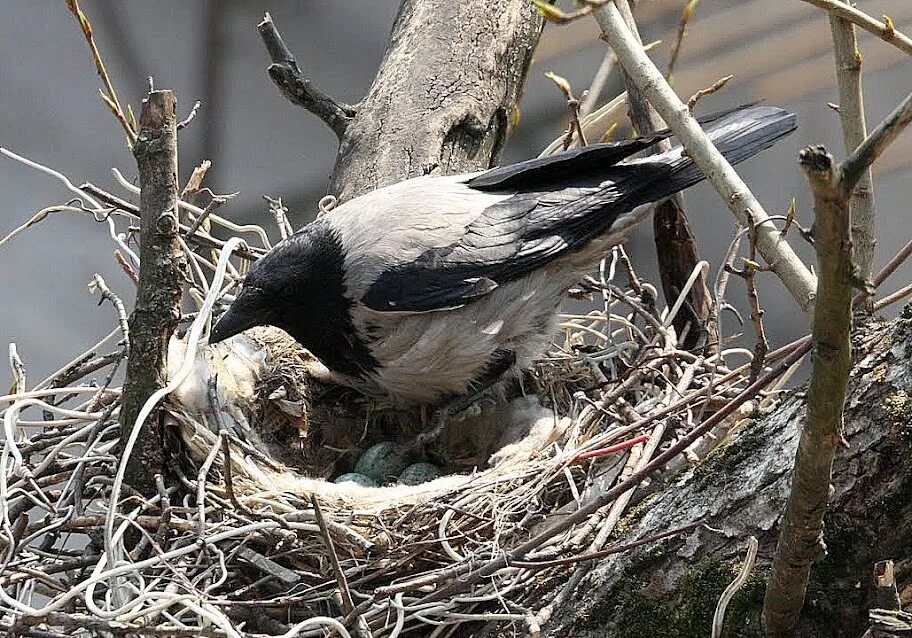
<path fill-rule="evenodd" d="M 740 107 L 702 120 L 731 163 L 796 128 Z M 276 326 L 339 381 L 437 404 L 528 367 L 569 287 L 649 205 L 703 179 L 665 131 L 467 175 L 424 176 L 346 202 L 254 263 L 210 343 Z"/>

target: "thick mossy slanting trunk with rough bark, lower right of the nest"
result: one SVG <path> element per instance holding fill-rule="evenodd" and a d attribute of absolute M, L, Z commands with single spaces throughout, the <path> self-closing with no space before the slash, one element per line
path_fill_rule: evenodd
<path fill-rule="evenodd" d="M 845 434 L 825 516 L 826 556 L 814 566 L 796 636 L 861 636 L 875 605 L 871 569 L 897 559 L 909 582 L 912 561 L 912 311 L 870 322 L 854 339 Z M 621 522 L 631 542 L 696 521 L 688 537 L 618 555 L 576 588 L 548 636 L 707 636 L 719 595 L 733 579 L 750 535 L 756 568 L 729 605 L 723 636 L 762 636 L 760 612 L 792 459 L 806 419 L 804 388 L 734 433 L 701 464 L 667 478 Z M 543 576 L 535 608 L 559 591 L 566 572 Z M 908 592 L 905 594 L 908 595 Z"/>

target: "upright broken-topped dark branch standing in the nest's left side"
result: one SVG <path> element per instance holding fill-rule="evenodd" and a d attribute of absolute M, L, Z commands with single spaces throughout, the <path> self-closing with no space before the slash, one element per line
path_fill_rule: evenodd
<path fill-rule="evenodd" d="M 130 358 L 124 380 L 121 441 L 149 396 L 164 386 L 168 340 L 180 319 L 184 258 L 178 243 L 177 101 L 154 91 L 143 101 L 133 154 L 139 168 L 140 266 L 136 306 L 130 315 Z M 149 419 L 127 462 L 126 481 L 155 493 L 164 466 L 159 422 Z"/>

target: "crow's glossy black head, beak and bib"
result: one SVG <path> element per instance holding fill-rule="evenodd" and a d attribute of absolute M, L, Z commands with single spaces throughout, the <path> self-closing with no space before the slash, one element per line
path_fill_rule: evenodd
<path fill-rule="evenodd" d="M 356 375 L 376 366 L 352 325 L 345 256 L 336 233 L 313 222 L 250 267 L 240 294 L 209 336 L 218 343 L 256 326 L 281 328 L 331 370 Z"/>

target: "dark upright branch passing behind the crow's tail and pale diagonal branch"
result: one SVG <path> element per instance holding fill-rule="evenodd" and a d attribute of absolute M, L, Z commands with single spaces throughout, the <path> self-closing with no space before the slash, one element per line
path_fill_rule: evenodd
<path fill-rule="evenodd" d="M 642 40 L 637 31 L 630 4 L 627 0 L 617 0 L 616 4 L 630 28 L 630 33 L 642 47 Z M 685 23 L 682 22 L 682 24 Z M 637 133 L 649 135 L 665 128 L 665 123 L 659 114 L 646 101 L 636 82 L 631 79 L 623 67 L 621 67 L 621 75 L 627 89 L 627 102 L 630 107 L 628 115 Z M 663 140 L 657 146 L 660 150 L 666 151 L 671 148 L 671 142 Z M 684 290 L 690 274 L 700 262 L 700 249 L 697 247 L 697 241 L 687 221 L 684 195 L 677 193 L 664 202 L 656 204 L 654 208 L 652 229 L 656 257 L 659 262 L 659 277 L 662 281 L 665 300 L 671 305 Z M 690 350 L 706 345 L 709 341 L 708 335 L 715 334 L 715 329 L 708 325 L 711 315 L 712 297 L 706 286 L 706 275 L 701 271 L 697 281 L 687 294 L 687 303 L 682 306 L 681 311 L 674 318 L 677 334 L 684 335 L 686 331 L 684 348 Z"/>

